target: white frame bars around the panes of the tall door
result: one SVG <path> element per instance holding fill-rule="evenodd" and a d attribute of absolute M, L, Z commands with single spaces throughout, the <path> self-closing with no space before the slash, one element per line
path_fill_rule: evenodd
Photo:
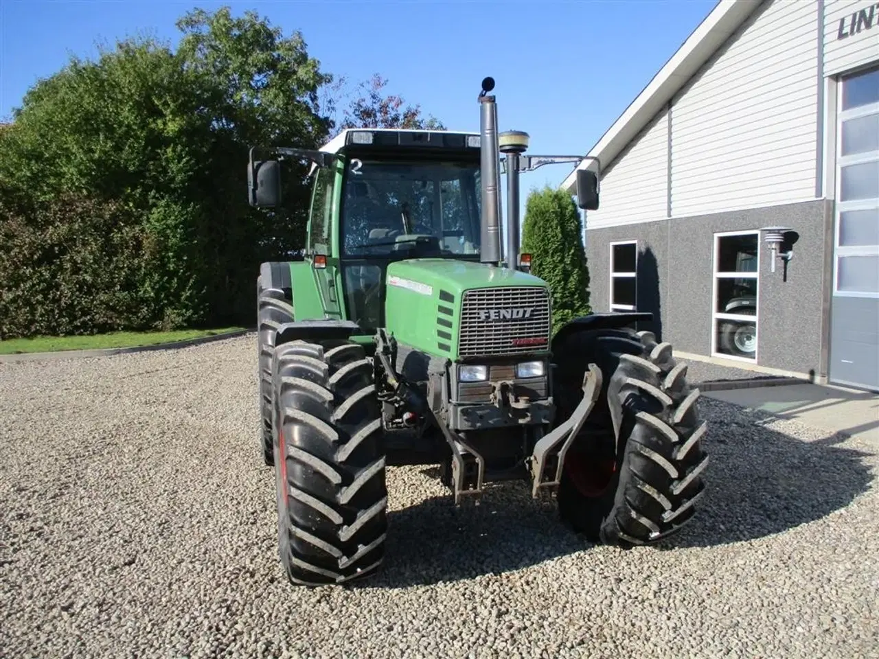
<path fill-rule="evenodd" d="M 867 105 L 858 105 L 848 110 L 842 109 L 842 98 L 845 91 L 846 82 L 853 77 L 874 73 L 876 69 L 858 70 L 839 76 L 836 85 L 837 107 L 839 108 L 836 115 L 836 154 L 834 163 L 835 174 L 835 201 L 833 205 L 833 295 L 836 297 L 848 298 L 870 298 L 879 299 L 879 286 L 873 292 L 868 291 L 841 291 L 839 290 L 839 258 L 840 257 L 879 257 L 879 244 L 877 245 L 852 245 L 845 246 L 839 244 L 839 230 L 841 228 L 842 214 L 846 211 L 856 210 L 879 210 L 879 196 L 873 199 L 855 199 L 854 201 L 842 200 L 842 168 L 848 165 L 861 163 L 879 162 L 879 149 L 865 151 L 863 153 L 854 154 L 852 156 L 842 155 L 842 126 L 849 119 L 859 119 L 874 115 L 879 120 L 879 102 L 869 103 Z"/>

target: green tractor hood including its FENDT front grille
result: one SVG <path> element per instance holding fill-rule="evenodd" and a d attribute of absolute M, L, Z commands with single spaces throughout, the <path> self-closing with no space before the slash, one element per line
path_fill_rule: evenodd
<path fill-rule="evenodd" d="M 400 343 L 453 360 L 548 350 L 548 286 L 534 275 L 419 258 L 389 264 L 386 284 L 385 326 Z"/>

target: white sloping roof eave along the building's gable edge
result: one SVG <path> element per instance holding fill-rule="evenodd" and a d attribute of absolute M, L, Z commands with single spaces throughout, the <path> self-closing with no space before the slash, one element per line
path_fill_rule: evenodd
<path fill-rule="evenodd" d="M 633 100 L 613 126 L 601 136 L 588 156 L 598 158 L 604 170 L 638 133 L 660 112 L 717 49 L 736 32 L 763 0 L 720 0 L 715 8 L 659 69 L 650 83 Z M 580 163 L 562 184 L 562 189 L 577 193 L 577 170 L 591 161 Z"/>

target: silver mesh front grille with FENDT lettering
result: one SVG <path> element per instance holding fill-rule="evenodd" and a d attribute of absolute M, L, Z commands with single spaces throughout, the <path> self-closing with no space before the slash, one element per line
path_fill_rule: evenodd
<path fill-rule="evenodd" d="M 458 354 L 481 357 L 546 350 L 549 322 L 549 292 L 541 286 L 465 291 Z"/>

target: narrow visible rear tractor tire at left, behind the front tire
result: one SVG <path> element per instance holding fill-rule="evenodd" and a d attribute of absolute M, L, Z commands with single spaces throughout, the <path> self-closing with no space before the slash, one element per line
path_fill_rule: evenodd
<path fill-rule="evenodd" d="M 269 267 L 265 266 L 284 266 Z M 284 276 L 286 269 L 286 277 Z M 293 291 L 290 286 L 289 265 L 263 264 L 257 278 L 257 329 L 259 406 L 262 423 L 259 447 L 266 465 L 274 464 L 272 453 L 272 350 L 278 328 L 293 322 Z"/>

